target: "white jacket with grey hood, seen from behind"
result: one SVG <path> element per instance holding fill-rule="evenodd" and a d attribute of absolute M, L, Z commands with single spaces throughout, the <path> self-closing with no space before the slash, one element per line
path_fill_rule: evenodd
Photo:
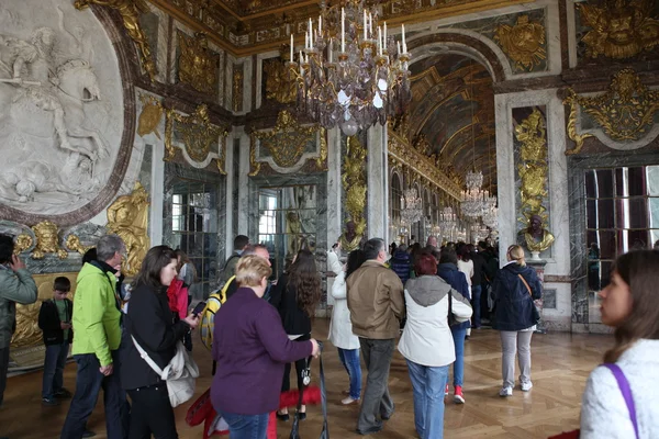
<path fill-rule="evenodd" d="M 471 305 L 459 292 L 437 275 L 410 279 L 405 284 L 407 322 L 399 342 L 405 359 L 427 367 L 442 367 L 456 360 L 448 326 L 448 295 L 458 320 L 471 317 Z"/>

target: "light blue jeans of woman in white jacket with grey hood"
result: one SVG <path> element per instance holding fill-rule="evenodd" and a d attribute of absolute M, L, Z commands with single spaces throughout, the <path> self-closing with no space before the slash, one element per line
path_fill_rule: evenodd
<path fill-rule="evenodd" d="M 431 368 L 406 361 L 414 396 L 416 432 L 421 439 L 443 439 L 444 387 L 448 381 L 448 365 Z"/>

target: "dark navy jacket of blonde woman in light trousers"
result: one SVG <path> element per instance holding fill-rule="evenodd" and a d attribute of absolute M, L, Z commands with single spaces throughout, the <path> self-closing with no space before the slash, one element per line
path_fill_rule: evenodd
<path fill-rule="evenodd" d="M 530 286 L 532 294 L 520 279 L 520 274 Z M 492 284 L 494 297 L 494 322 L 492 327 L 499 330 L 523 330 L 537 324 L 534 318 L 534 300 L 543 296 L 543 285 L 535 270 L 516 262 L 505 264 Z"/>

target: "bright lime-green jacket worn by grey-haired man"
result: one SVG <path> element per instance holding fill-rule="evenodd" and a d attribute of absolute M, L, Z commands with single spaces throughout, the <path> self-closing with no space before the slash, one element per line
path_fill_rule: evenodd
<path fill-rule="evenodd" d="M 116 277 L 110 266 L 93 261 L 82 266 L 76 283 L 71 353 L 94 353 L 101 365 L 108 365 L 121 341 Z"/>

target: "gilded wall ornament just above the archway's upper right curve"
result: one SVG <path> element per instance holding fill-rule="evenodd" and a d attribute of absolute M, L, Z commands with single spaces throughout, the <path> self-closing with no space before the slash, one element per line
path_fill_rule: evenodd
<path fill-rule="evenodd" d="M 514 26 L 502 24 L 496 27 L 494 41 L 520 70 L 530 71 L 547 59 L 545 26 L 539 22 L 529 22 L 528 15 L 517 16 Z"/>

